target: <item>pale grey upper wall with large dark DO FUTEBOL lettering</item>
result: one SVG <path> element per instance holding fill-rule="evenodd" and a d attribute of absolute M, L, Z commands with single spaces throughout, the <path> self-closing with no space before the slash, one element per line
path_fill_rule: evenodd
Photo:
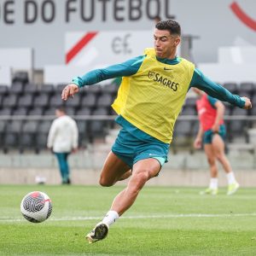
<path fill-rule="evenodd" d="M 26 0 L 0 0 L 0 48 L 35 49 L 37 68 L 42 68 L 44 65 L 62 65 L 65 63 L 66 32 L 151 30 L 153 21 L 150 18 L 153 18 L 159 10 L 162 19 L 176 15 L 183 33 L 200 37 L 194 42 L 195 61 L 214 62 L 217 61 L 219 46 L 235 45 L 241 41 L 256 44 L 255 30 L 244 25 L 231 11 L 230 4 L 233 2 L 233 0 L 74 0 L 72 2 L 32 0 L 34 4 L 29 4 L 27 15 L 32 22 L 27 23 Z M 67 3 L 69 9 L 73 11 L 67 12 Z M 81 18 L 79 9 L 82 9 L 82 3 L 84 3 L 85 17 L 89 18 L 91 15 L 89 21 Z M 90 11 L 90 3 L 94 3 L 93 12 Z M 256 1 L 236 0 L 236 3 L 252 19 L 256 19 Z M 138 5 L 140 8 L 136 9 Z M 53 6 L 55 9 L 52 8 Z M 38 11 L 37 15 L 34 15 L 35 9 Z M 41 15 L 42 9 L 44 16 Z M 67 14 L 69 20 L 66 20 Z M 131 17 L 137 20 L 131 20 Z"/>

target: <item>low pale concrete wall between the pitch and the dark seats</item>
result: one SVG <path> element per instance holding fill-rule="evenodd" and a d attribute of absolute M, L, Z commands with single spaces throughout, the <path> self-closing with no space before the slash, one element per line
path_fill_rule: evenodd
<path fill-rule="evenodd" d="M 74 184 L 97 184 L 108 152 L 79 152 L 70 157 L 72 181 Z M 255 157 L 246 152 L 229 154 L 231 165 L 241 186 L 256 186 Z M 54 155 L 44 154 L 0 154 L 0 184 L 36 183 L 37 177 L 46 178 L 47 184 L 61 183 L 60 173 Z M 207 186 L 209 169 L 204 154 L 170 154 L 169 162 L 162 168 L 159 177 L 149 185 Z M 125 184 L 126 181 L 120 183 Z M 226 177 L 219 169 L 219 184 L 226 186 Z"/>

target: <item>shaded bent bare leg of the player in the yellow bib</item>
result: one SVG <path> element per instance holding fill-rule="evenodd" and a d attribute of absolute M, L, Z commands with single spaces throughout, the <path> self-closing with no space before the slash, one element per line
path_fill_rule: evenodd
<path fill-rule="evenodd" d="M 123 160 L 110 151 L 102 168 L 100 184 L 104 187 L 112 186 L 117 181 L 129 177 L 131 172 L 128 171 L 130 170 L 130 166 L 127 166 Z"/>

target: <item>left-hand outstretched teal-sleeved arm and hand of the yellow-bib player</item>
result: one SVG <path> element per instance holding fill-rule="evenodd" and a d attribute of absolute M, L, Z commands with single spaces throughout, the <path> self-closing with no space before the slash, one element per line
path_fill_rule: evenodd
<path fill-rule="evenodd" d="M 84 85 L 97 84 L 103 80 L 114 79 L 119 77 L 131 76 L 141 67 L 145 55 L 132 58 L 131 60 L 119 63 L 110 67 L 100 68 L 85 73 L 81 77 L 75 77 L 71 84 L 67 84 L 61 94 L 62 100 L 67 100 L 69 96 L 73 96 L 79 92 L 79 88 Z"/>

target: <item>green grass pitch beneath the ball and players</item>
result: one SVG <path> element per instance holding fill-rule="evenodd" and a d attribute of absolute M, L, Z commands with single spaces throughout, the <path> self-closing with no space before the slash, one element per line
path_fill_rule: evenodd
<path fill-rule="evenodd" d="M 199 195 L 198 188 L 145 187 L 103 241 L 84 236 L 123 187 L 0 186 L 0 255 L 256 255 L 256 189 Z M 20 201 L 40 190 L 53 201 L 42 224 L 20 214 Z"/>

